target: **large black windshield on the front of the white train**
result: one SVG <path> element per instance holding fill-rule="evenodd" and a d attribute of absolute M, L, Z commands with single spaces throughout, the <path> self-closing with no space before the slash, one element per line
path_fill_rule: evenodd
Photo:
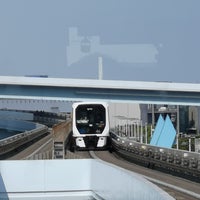
<path fill-rule="evenodd" d="M 101 134 L 106 123 L 103 105 L 79 105 L 76 108 L 76 127 L 80 134 Z"/>

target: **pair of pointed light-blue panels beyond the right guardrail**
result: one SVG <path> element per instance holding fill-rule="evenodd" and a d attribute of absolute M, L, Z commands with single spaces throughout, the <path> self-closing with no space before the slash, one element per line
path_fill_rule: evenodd
<path fill-rule="evenodd" d="M 155 131 L 150 141 L 150 145 L 172 148 L 176 138 L 176 130 L 171 122 L 170 117 L 167 115 L 164 120 L 160 115 L 156 124 Z"/>

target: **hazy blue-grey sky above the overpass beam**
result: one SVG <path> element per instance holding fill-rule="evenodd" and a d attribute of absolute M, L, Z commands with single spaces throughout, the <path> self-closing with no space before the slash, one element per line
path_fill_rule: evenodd
<path fill-rule="evenodd" d="M 199 0 L 0 0 L 0 75 L 97 78 L 98 53 L 67 64 L 77 27 L 101 44 L 158 50 L 154 63 L 103 58 L 104 79 L 200 82 L 199 9 Z"/>

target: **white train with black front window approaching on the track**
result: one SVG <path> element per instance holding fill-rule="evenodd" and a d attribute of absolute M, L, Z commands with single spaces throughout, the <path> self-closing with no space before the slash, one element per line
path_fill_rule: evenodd
<path fill-rule="evenodd" d="M 106 102 L 76 102 L 72 105 L 71 149 L 107 149 L 109 112 Z"/>

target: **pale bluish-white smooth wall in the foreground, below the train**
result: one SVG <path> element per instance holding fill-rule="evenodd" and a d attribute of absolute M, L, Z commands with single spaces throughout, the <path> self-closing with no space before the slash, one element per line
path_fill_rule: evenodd
<path fill-rule="evenodd" d="M 96 159 L 0 161 L 0 199 L 72 191 L 93 191 L 106 200 L 173 199 L 142 177 Z"/>

